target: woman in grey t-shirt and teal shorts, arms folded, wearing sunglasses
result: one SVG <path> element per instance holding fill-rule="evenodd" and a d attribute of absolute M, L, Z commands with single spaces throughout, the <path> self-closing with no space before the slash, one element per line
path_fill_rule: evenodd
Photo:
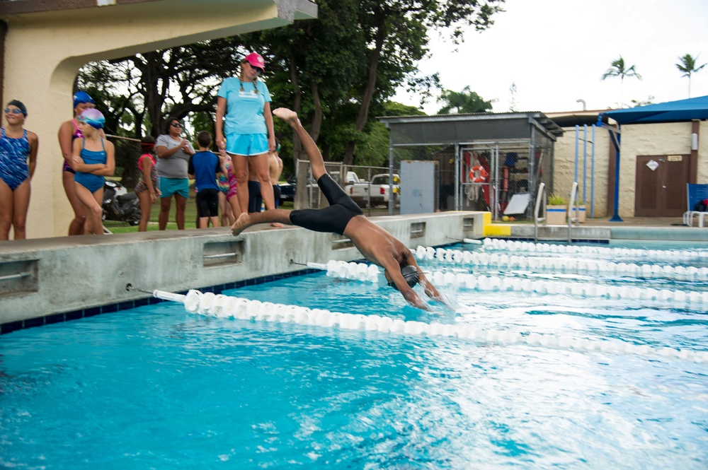
<path fill-rule="evenodd" d="M 175 198 L 177 230 L 184 230 L 184 212 L 189 197 L 187 167 L 194 148 L 181 137 L 182 123 L 176 117 L 167 119 L 165 134 L 157 138 L 157 175 L 160 178 L 160 230 L 167 227 L 172 196 Z"/>

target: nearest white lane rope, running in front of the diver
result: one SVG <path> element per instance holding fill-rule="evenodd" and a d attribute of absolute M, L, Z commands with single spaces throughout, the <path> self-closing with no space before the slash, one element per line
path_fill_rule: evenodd
<path fill-rule="evenodd" d="M 598 341 L 550 334 L 520 334 L 517 331 L 479 329 L 472 325 L 428 324 L 392 319 L 391 317 L 379 315 L 330 312 L 329 310 L 309 309 L 297 305 L 260 302 L 229 295 L 201 293 L 198 290 L 190 290 L 187 295 L 154 290 L 152 295 L 163 300 L 181 303 L 184 305 L 185 310 L 191 314 L 248 322 L 301 324 L 329 329 L 338 328 L 343 330 L 379 331 L 383 334 L 426 336 L 433 339 L 452 338 L 480 344 L 523 345 L 582 353 L 624 353 L 708 363 L 708 351 L 679 350 L 668 347 L 653 347 L 646 344 L 635 345 L 615 339 Z"/>

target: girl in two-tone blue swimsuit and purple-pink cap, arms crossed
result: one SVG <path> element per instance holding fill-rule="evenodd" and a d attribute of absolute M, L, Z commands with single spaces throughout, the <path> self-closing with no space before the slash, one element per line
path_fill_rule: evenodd
<path fill-rule="evenodd" d="M 94 108 L 79 114 L 79 129 L 84 137 L 74 140 L 72 159 L 76 196 L 86 213 L 84 230 L 93 235 L 103 235 L 103 182 L 115 170 L 113 143 L 100 133 L 104 123 L 103 114 Z"/>

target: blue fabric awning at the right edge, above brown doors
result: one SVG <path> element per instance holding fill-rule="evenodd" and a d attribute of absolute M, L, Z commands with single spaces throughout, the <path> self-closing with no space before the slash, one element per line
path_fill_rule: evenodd
<path fill-rule="evenodd" d="M 598 121 L 603 116 L 611 117 L 619 124 L 686 122 L 692 119 L 708 119 L 708 96 L 630 107 L 627 110 L 607 111 L 600 114 Z"/>

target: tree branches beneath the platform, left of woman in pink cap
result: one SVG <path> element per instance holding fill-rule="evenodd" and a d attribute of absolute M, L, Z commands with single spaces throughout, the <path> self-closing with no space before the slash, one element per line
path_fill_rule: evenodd
<path fill-rule="evenodd" d="M 220 81 L 235 74 L 242 57 L 239 38 L 227 37 L 87 64 L 76 83 L 105 107 L 108 129 L 157 136 L 167 117 L 211 112 Z"/>

